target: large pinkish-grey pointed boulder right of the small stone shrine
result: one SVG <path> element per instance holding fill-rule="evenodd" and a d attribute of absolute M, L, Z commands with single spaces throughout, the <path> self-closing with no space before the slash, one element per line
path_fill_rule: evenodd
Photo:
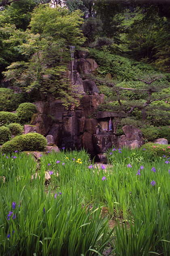
<path fill-rule="evenodd" d="M 132 125 L 125 125 L 122 128 L 125 135 L 119 136 L 117 140 L 117 147 L 122 148 L 139 148 L 144 144 L 142 132 L 139 128 Z"/>

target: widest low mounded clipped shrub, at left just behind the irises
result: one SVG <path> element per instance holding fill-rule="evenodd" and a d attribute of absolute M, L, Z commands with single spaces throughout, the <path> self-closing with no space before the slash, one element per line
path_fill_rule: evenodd
<path fill-rule="evenodd" d="M 47 146 L 47 139 L 39 133 L 32 132 L 14 137 L 11 141 L 7 141 L 2 145 L 0 151 L 12 154 L 18 151 L 43 151 Z"/>

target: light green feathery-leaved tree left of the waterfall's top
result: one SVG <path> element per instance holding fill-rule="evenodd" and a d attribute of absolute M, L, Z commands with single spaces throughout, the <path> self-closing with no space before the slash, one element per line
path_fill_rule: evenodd
<path fill-rule="evenodd" d="M 8 66 L 3 74 L 13 85 L 25 91 L 39 90 L 40 94 L 53 93 L 64 100 L 64 104 L 76 104 L 71 94 L 70 81 L 62 74 L 70 60 L 69 46 L 79 46 L 85 38 L 79 26 L 80 11 L 69 14 L 66 8 L 51 8 L 40 4 L 34 9 L 30 30 L 13 32 L 8 42 L 18 43 L 18 50 L 30 61 L 17 61 Z M 57 33 L 56 33 L 57 31 Z"/>

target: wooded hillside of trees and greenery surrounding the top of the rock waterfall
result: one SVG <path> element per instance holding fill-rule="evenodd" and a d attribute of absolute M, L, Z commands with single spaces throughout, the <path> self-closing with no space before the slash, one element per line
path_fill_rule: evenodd
<path fill-rule="evenodd" d="M 75 102 L 61 76 L 70 45 L 99 65 L 99 110 L 125 111 L 124 124 L 170 125 L 170 1 L 0 1 L 1 87 L 5 78 L 30 92 L 19 103 L 49 93 Z"/>

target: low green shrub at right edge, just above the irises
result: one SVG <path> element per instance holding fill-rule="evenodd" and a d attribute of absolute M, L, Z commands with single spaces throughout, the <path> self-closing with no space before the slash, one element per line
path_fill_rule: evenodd
<path fill-rule="evenodd" d="M 163 145 L 157 143 L 146 143 L 142 145 L 142 150 L 147 150 L 148 152 L 153 152 L 157 156 L 167 156 L 170 157 L 170 145 Z"/>

